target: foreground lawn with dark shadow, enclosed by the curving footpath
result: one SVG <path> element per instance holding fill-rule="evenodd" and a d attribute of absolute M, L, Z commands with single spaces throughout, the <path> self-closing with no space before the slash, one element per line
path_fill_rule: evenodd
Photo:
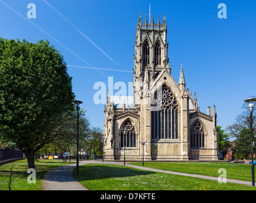
<path fill-rule="evenodd" d="M 86 164 L 75 178 L 88 190 L 256 190 L 256 187 L 218 183 L 165 173 L 142 171 L 128 166 Z"/>

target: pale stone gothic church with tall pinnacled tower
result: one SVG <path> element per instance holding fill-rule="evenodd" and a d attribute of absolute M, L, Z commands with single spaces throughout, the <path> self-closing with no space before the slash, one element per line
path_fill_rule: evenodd
<path fill-rule="evenodd" d="M 133 55 L 133 96 L 107 93 L 105 160 L 218 160 L 217 114 L 198 107 L 186 88 L 183 67 L 172 77 L 163 23 L 139 15 Z"/>

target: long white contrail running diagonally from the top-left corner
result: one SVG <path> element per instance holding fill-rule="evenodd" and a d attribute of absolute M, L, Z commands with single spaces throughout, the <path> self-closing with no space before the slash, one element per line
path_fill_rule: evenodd
<path fill-rule="evenodd" d="M 35 23 L 31 22 L 28 18 L 26 18 L 25 16 L 21 15 L 20 13 L 18 13 L 18 11 L 14 10 L 13 8 L 11 8 L 11 6 L 9 6 L 8 4 L 4 3 L 4 1 L 0 0 L 1 3 L 3 3 L 7 8 L 9 8 L 11 11 L 13 11 L 14 13 L 16 13 L 19 16 L 22 16 L 22 18 L 24 18 L 25 20 L 27 20 L 27 22 L 31 23 L 32 25 L 34 25 L 37 29 L 39 29 L 41 32 L 43 32 L 44 34 L 46 34 L 46 36 L 51 37 L 51 39 L 53 39 L 54 41 L 56 41 L 58 44 L 60 44 L 61 46 L 63 46 L 65 49 L 67 49 L 69 52 L 72 53 L 72 55 L 76 56 L 77 58 L 79 58 L 81 61 L 83 61 L 84 63 L 86 63 L 87 65 L 89 65 L 90 67 L 93 67 L 93 65 L 91 65 L 90 63 L 86 62 L 86 60 L 84 60 L 83 58 L 81 58 L 80 56 L 78 56 L 76 53 L 74 53 L 74 51 L 72 51 L 71 49 L 67 48 L 67 46 L 65 46 L 64 44 L 60 43 L 60 41 L 58 41 L 57 39 L 55 39 L 55 37 L 51 36 L 50 34 L 48 34 L 48 32 L 44 31 L 43 29 L 41 29 L 41 27 L 37 26 Z M 100 74 L 104 75 L 105 77 L 107 77 L 107 75 L 103 74 L 102 72 L 100 72 L 100 70 L 97 70 Z"/>

